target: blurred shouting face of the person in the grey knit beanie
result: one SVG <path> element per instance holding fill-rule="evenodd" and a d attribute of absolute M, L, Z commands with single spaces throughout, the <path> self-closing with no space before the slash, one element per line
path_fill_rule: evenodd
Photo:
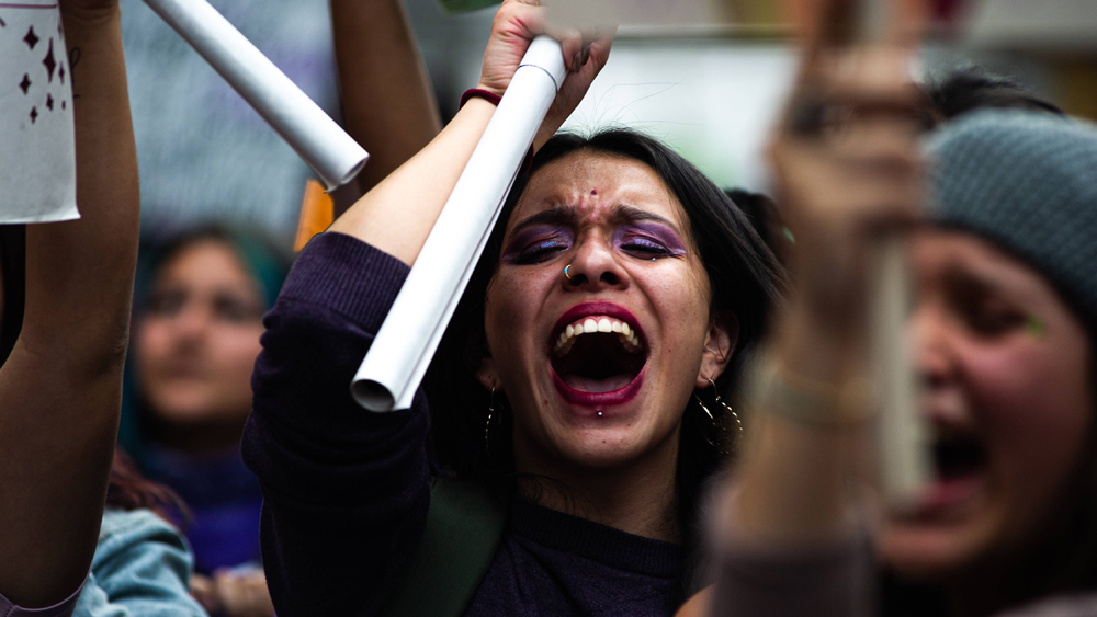
<path fill-rule="evenodd" d="M 937 479 L 882 536 L 900 573 L 947 582 L 1040 541 L 1086 455 L 1082 321 L 1026 262 L 959 231 L 915 236 L 914 313 Z"/>

